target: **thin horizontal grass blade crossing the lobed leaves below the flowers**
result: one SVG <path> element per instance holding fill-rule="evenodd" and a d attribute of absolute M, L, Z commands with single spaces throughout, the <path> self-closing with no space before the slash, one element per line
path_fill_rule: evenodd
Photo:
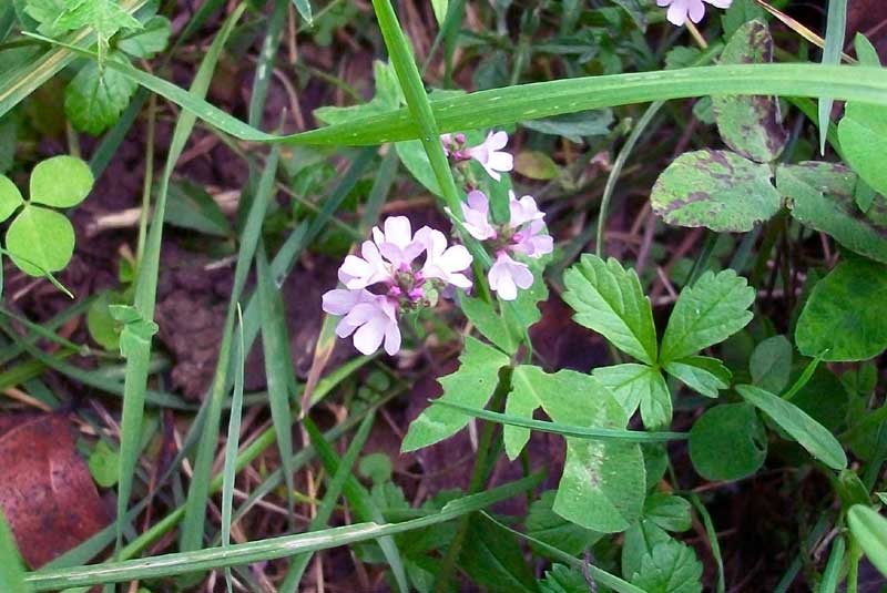
<path fill-rule="evenodd" d="M 570 425 L 563 425 L 561 422 L 547 422 L 544 420 L 533 420 L 531 418 L 522 418 L 519 416 L 511 416 L 508 413 L 495 412 L 480 408 L 471 408 L 470 406 L 462 406 L 461 403 L 443 401 L 441 399 L 432 399 L 429 401 L 434 406 L 452 408 L 453 410 L 459 410 L 473 418 L 489 420 L 490 422 L 529 428 L 540 432 L 551 432 L 552 434 L 560 434 L 562 437 L 571 437 L 577 439 L 618 440 L 628 442 L 667 442 L 681 441 L 690 438 L 689 432 L 645 432 L 643 430 L 620 430 L 616 428 L 574 427 Z"/>

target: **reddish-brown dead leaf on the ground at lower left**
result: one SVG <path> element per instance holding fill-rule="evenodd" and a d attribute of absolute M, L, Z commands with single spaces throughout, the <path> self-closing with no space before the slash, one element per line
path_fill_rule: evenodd
<path fill-rule="evenodd" d="M 63 416 L 0 419 L 0 508 L 37 569 L 105 528 L 110 514 Z"/>

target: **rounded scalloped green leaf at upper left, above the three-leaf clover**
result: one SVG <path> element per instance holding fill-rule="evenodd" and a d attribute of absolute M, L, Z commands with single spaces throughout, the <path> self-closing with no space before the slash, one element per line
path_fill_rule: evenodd
<path fill-rule="evenodd" d="M 118 52 L 108 59 L 125 60 Z M 64 113 L 78 130 L 100 134 L 118 122 L 136 88 L 119 71 L 89 62 L 64 89 Z"/>

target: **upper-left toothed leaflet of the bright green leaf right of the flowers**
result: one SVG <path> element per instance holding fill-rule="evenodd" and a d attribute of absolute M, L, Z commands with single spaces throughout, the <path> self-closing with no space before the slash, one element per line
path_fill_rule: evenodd
<path fill-rule="evenodd" d="M 604 263 L 597 255 L 583 254 L 563 275 L 563 299 L 575 310 L 578 324 L 642 362 L 656 361 L 653 309 L 634 270 L 625 270 L 613 258 Z"/>

